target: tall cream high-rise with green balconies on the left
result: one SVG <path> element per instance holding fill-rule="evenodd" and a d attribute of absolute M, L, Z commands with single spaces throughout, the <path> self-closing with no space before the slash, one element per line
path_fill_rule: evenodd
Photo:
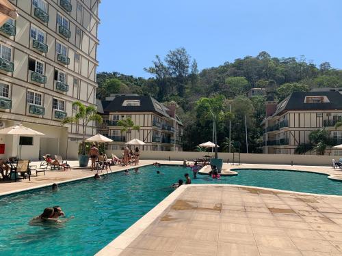
<path fill-rule="evenodd" d="M 23 124 L 45 134 L 21 138 L 21 158 L 77 156 L 81 128 L 62 127 L 72 103 L 95 105 L 100 0 L 11 0 L 18 18 L 0 28 L 0 128 Z M 90 124 L 87 135 L 96 133 Z M 1 136 L 5 152 L 18 154 L 16 136 Z"/>

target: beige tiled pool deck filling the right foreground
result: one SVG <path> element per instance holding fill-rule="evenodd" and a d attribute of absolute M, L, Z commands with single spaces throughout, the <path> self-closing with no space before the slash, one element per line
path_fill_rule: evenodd
<path fill-rule="evenodd" d="M 98 255 L 342 255 L 342 197 L 187 186 L 126 248 L 116 245 Z"/>

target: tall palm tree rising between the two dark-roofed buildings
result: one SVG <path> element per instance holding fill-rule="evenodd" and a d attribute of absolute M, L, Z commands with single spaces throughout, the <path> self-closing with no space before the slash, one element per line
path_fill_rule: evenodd
<path fill-rule="evenodd" d="M 222 95 L 214 96 L 212 98 L 200 98 L 196 104 L 197 109 L 204 109 L 203 115 L 200 117 L 202 122 L 207 120 L 213 121 L 213 133 L 215 143 L 215 158 L 218 158 L 218 132 L 217 126 L 219 122 L 222 122 L 224 117 L 230 113 L 224 113 L 226 109 L 225 98 Z"/>

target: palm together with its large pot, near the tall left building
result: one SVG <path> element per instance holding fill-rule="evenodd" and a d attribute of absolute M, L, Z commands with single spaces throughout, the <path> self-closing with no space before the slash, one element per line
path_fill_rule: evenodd
<path fill-rule="evenodd" d="M 102 123 L 101 115 L 98 115 L 94 106 L 86 106 L 79 101 L 73 102 L 73 107 L 77 106 L 77 113 L 73 117 L 66 117 L 62 120 L 62 126 L 65 124 L 81 124 L 82 126 L 82 143 L 79 147 L 79 167 L 87 167 L 89 162 L 90 144 L 86 143 L 86 128 L 89 122 L 95 121 Z M 88 145 L 88 149 L 87 149 Z"/>

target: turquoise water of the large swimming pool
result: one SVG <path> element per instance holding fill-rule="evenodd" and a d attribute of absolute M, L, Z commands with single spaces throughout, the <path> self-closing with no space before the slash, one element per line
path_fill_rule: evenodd
<path fill-rule="evenodd" d="M 183 167 L 140 168 L 130 175 L 113 173 L 103 180 L 82 180 L 51 188 L 0 197 L 0 255 L 94 255 L 163 198 L 170 184 L 183 177 Z M 342 195 L 342 183 L 326 175 L 295 171 L 239 170 L 239 175 L 213 180 L 198 175 L 194 184 L 241 184 Z M 189 172 L 190 173 L 190 172 Z M 0 184 L 1 186 L 1 184 Z M 30 226 L 46 207 L 60 205 L 75 218 L 63 225 Z"/>

